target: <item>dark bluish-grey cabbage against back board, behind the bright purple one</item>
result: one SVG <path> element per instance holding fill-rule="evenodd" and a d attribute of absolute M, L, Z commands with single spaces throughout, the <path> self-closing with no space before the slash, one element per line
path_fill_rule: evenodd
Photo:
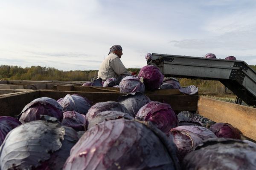
<path fill-rule="evenodd" d="M 133 117 L 135 117 L 140 108 L 151 102 L 151 100 L 141 92 L 135 92 L 119 96 L 118 102 L 123 104 L 129 112 L 133 113 Z"/>

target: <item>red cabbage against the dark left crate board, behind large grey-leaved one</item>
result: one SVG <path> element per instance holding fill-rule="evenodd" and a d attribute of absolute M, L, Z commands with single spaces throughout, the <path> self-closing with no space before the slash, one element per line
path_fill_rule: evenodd
<path fill-rule="evenodd" d="M 29 121 L 41 120 L 40 115 L 55 117 L 61 122 L 63 118 L 62 112 L 62 106 L 57 101 L 52 98 L 42 97 L 36 98 L 27 104 L 18 117 L 23 124 Z"/>

